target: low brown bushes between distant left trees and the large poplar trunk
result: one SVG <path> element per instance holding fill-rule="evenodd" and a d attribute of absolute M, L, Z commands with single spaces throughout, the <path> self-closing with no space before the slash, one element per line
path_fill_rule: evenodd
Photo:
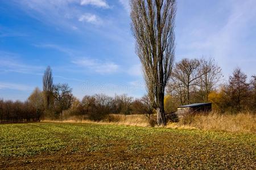
<path fill-rule="evenodd" d="M 94 121 L 104 119 L 108 114 L 144 114 L 150 117 L 153 109 L 148 97 L 133 99 L 125 94 L 110 97 L 104 94 L 84 96 L 81 101 L 75 99 L 70 109 L 65 111 L 68 116 L 78 116 L 80 120 L 88 118 Z"/>

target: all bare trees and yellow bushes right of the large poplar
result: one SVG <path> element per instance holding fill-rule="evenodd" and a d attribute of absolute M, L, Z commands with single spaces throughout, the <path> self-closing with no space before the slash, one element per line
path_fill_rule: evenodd
<path fill-rule="evenodd" d="M 166 112 L 179 105 L 213 104 L 213 109 L 225 113 L 256 111 L 256 75 L 250 79 L 236 68 L 223 83 L 221 68 L 213 58 L 182 59 L 175 63 L 165 97 Z"/>

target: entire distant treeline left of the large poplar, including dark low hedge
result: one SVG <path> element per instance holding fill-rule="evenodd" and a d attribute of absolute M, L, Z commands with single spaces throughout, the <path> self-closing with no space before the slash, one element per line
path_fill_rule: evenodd
<path fill-rule="evenodd" d="M 72 88 L 68 84 L 53 84 L 50 67 L 43 75 L 43 91 L 36 87 L 24 102 L 0 100 L 0 122 L 55 120 L 70 116 L 98 121 L 110 113 L 136 113 L 149 117 L 152 111 L 147 96 L 134 100 L 125 94 L 114 97 L 96 94 L 84 96 L 80 101 L 72 95 Z"/>

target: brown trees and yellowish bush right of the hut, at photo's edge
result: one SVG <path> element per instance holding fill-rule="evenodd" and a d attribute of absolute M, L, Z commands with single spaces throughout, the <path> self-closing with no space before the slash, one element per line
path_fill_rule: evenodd
<path fill-rule="evenodd" d="M 236 68 L 229 76 L 228 83 L 220 90 L 213 92 L 210 101 L 220 112 L 256 112 L 256 76 L 247 75 L 240 68 Z"/>

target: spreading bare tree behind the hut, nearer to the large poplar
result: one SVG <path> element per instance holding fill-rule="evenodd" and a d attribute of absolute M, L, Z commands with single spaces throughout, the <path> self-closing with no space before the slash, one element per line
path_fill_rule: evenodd
<path fill-rule="evenodd" d="M 170 88 L 171 91 L 176 91 L 180 96 L 181 104 L 190 103 L 191 86 L 197 85 L 199 79 L 204 73 L 199 72 L 199 59 L 182 59 L 176 63 L 172 72 Z"/>

